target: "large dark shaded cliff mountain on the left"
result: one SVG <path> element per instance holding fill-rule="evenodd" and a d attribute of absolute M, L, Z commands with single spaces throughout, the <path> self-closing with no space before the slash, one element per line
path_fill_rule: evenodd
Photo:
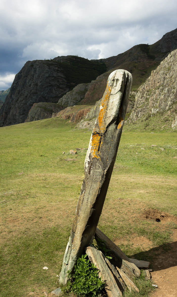
<path fill-rule="evenodd" d="M 106 70 L 104 64 L 66 56 L 51 61 L 28 61 L 15 76 L 0 110 L 0 126 L 25 121 L 34 103 L 57 103 L 79 83 L 88 83 Z"/>

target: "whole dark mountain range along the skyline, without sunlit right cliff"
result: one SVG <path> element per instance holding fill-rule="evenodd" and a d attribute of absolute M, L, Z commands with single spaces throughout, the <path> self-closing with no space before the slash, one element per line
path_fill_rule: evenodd
<path fill-rule="evenodd" d="M 125 53 L 107 59 L 89 61 L 76 56 L 61 56 L 51 61 L 28 61 L 16 75 L 0 110 L 0 125 L 24 122 L 32 105 L 38 102 L 94 105 L 103 96 L 107 78 L 115 69 L 126 69 L 133 75 L 130 112 L 138 87 L 176 48 L 177 29 L 153 45 L 135 45 Z"/>

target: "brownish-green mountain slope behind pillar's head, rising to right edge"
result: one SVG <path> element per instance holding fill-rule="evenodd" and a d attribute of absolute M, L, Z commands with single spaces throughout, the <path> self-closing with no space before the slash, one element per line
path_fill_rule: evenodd
<path fill-rule="evenodd" d="M 160 62 L 170 53 L 177 48 L 177 29 L 166 33 L 159 41 L 153 45 L 140 44 L 130 48 L 125 53 L 117 56 L 109 57 L 107 59 L 92 60 L 100 61 L 106 64 L 107 72 L 98 76 L 85 87 L 85 95 L 80 91 L 82 86 L 77 86 L 74 91 L 75 104 L 95 104 L 98 99 L 102 98 L 109 74 L 116 69 L 126 69 L 133 75 L 133 86 L 130 94 L 128 105 L 128 112 L 133 108 L 135 94 L 138 87 L 145 82 L 146 78 L 151 74 L 151 71 L 156 69 Z M 81 87 L 81 88 L 80 88 Z M 72 94 L 67 93 L 58 103 L 63 103 L 66 98 L 68 106 L 72 106 Z M 81 99 L 81 100 L 80 100 Z"/>

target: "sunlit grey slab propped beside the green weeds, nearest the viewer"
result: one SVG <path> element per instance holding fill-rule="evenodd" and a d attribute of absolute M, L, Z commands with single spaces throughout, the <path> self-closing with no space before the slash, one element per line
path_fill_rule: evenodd
<path fill-rule="evenodd" d="M 109 297 L 122 296 L 122 292 L 117 285 L 113 273 L 107 266 L 102 252 L 98 251 L 94 247 L 87 247 L 86 254 L 89 257 L 90 262 L 92 262 L 100 270 L 99 277 L 101 277 L 101 279 L 105 282 L 107 295 Z"/>

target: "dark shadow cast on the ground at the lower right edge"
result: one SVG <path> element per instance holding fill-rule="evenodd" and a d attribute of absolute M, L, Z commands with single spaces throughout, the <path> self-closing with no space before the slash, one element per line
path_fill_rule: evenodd
<path fill-rule="evenodd" d="M 150 262 L 150 267 L 154 271 L 167 269 L 177 266 L 177 241 L 162 244 L 145 252 L 139 252 L 131 255 L 130 258 Z"/>

